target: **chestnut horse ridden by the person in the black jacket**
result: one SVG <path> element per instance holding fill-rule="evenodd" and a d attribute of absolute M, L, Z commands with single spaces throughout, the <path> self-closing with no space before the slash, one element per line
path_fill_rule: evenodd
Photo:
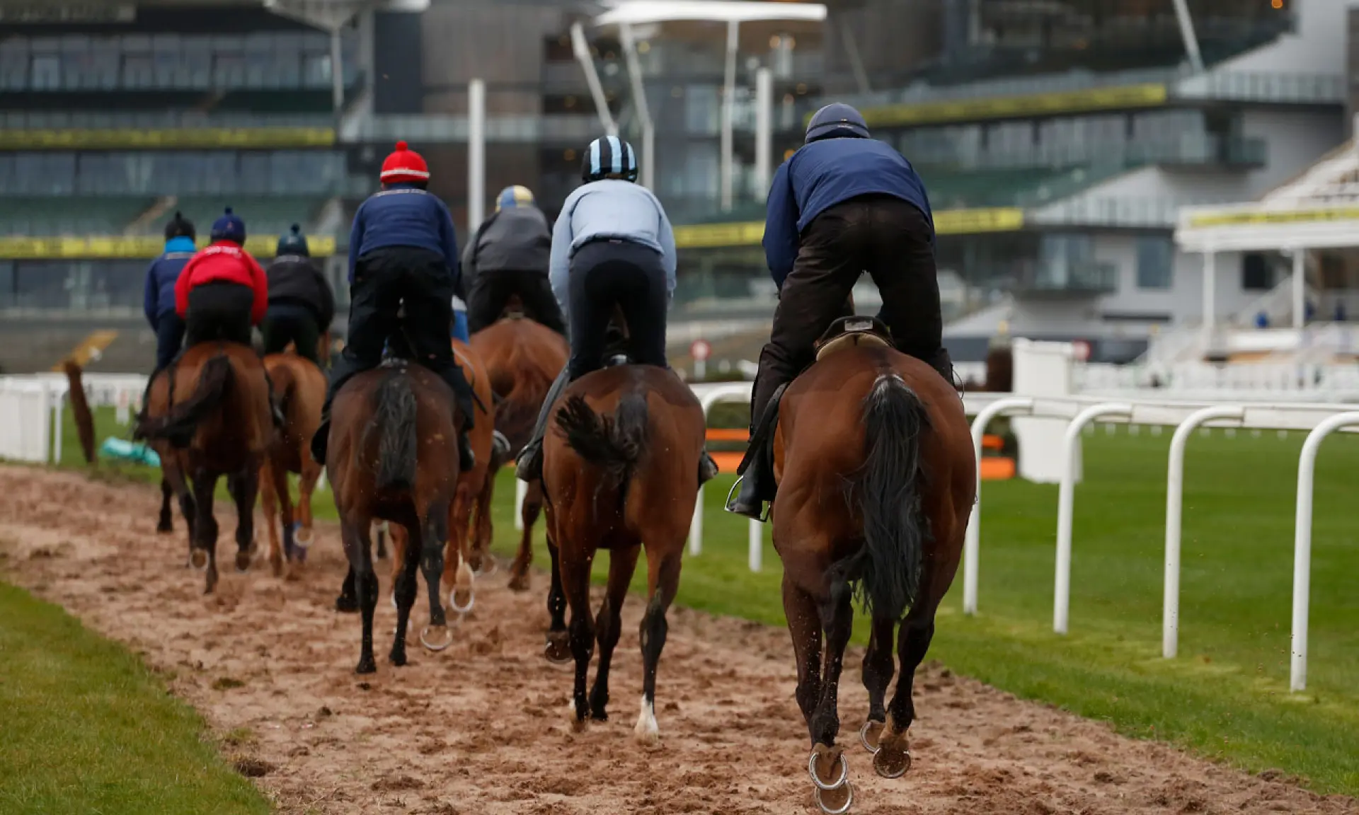
<path fill-rule="evenodd" d="M 289 345 L 291 348 L 291 345 Z M 260 473 L 261 504 L 269 528 L 269 565 L 275 576 L 283 576 L 284 562 L 302 562 L 311 545 L 311 494 L 321 478 L 321 463 L 311 458 L 311 436 L 321 425 L 321 403 L 326 398 L 326 375 L 311 360 L 294 352 L 275 353 L 264 359 L 264 367 L 273 380 L 275 397 L 283 412 L 284 427 L 277 435 L 264 469 Z M 298 489 L 298 524 L 294 526 L 292 494 L 288 473 L 300 475 Z M 283 523 L 283 547 L 279 546 L 279 527 Z"/>

